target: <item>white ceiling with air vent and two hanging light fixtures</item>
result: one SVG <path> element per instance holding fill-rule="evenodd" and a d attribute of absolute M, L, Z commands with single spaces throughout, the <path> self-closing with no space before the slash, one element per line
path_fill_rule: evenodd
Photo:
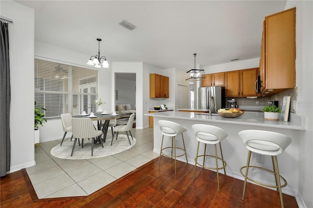
<path fill-rule="evenodd" d="M 17 0 L 35 10 L 35 41 L 111 62 L 194 68 L 260 57 L 265 16 L 286 0 Z M 126 20 L 137 28 L 118 23 Z M 86 65 L 87 66 L 87 65 Z"/>

